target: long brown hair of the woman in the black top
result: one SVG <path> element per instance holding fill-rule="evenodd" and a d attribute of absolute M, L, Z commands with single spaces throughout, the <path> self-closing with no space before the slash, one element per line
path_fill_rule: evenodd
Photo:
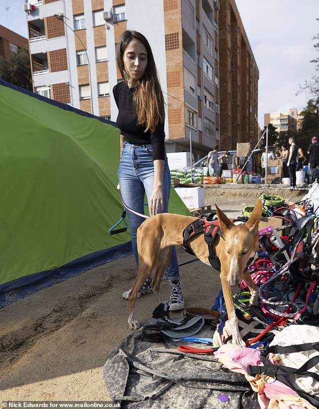
<path fill-rule="evenodd" d="M 127 83 L 129 75 L 125 70 L 123 57 L 127 46 L 134 39 L 139 40 L 144 45 L 147 53 L 147 66 L 144 75 L 138 81 L 133 96 L 137 124 L 145 126 L 145 132 L 149 129 L 154 131 L 157 125 L 165 120 L 165 105 L 153 53 L 143 34 L 137 31 L 124 31 L 116 48 L 117 65 L 122 78 Z"/>

